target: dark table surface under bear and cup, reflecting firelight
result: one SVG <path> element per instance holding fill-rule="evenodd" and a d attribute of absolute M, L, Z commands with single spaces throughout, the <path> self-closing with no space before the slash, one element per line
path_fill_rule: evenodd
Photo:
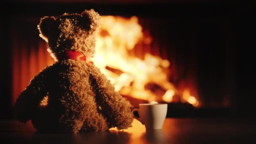
<path fill-rule="evenodd" d="M 246 143 L 256 136 L 256 119 L 166 118 L 162 130 L 146 131 L 139 121 L 124 131 L 38 133 L 30 122 L 0 121 L 0 144 L 219 144 Z M 255 140 L 254 140 L 255 141 Z"/>

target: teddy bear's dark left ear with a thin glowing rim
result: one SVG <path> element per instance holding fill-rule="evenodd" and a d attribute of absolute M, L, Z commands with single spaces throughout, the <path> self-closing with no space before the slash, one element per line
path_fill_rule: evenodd
<path fill-rule="evenodd" d="M 40 23 L 37 25 L 37 28 L 40 31 L 40 37 L 42 37 L 45 41 L 48 41 L 48 37 L 51 34 L 55 20 L 56 18 L 54 16 L 45 16 L 41 18 Z"/>

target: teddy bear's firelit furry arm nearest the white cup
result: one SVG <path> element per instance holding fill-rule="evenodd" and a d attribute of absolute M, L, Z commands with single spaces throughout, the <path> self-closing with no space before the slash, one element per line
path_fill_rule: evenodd
<path fill-rule="evenodd" d="M 95 80 L 96 101 L 101 106 L 104 116 L 107 117 L 112 127 L 117 127 L 117 129 L 130 127 L 133 121 L 130 102 L 115 91 L 114 85 L 98 68 L 94 67 L 94 69 L 92 75 Z"/>

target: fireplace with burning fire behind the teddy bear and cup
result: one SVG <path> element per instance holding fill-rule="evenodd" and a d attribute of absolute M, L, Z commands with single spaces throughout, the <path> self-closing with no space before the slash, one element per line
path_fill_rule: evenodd
<path fill-rule="evenodd" d="M 168 112 L 174 112 L 170 116 L 229 115 L 234 107 L 235 50 L 229 27 L 233 21 L 222 15 L 227 9 L 221 6 L 216 12 L 209 5 L 177 3 L 8 5 L 14 10 L 6 18 L 11 108 L 29 80 L 54 62 L 39 37 L 40 18 L 85 8 L 102 15 L 94 63 L 134 107 L 168 103 Z"/>

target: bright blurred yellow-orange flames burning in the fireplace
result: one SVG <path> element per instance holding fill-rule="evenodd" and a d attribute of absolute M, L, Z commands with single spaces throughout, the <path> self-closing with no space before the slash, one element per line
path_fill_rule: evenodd
<path fill-rule="evenodd" d="M 150 44 L 151 41 L 151 37 L 144 36 L 136 16 L 101 16 L 93 62 L 120 94 L 149 102 L 171 102 L 179 91 L 168 81 L 168 75 L 164 72 L 170 62 L 149 53 L 144 54 L 144 59 L 130 54 L 139 42 Z M 156 93 L 146 88 L 146 85 L 157 85 L 164 92 Z M 195 97 L 190 95 L 183 96 L 181 100 L 193 105 L 198 104 Z"/>

